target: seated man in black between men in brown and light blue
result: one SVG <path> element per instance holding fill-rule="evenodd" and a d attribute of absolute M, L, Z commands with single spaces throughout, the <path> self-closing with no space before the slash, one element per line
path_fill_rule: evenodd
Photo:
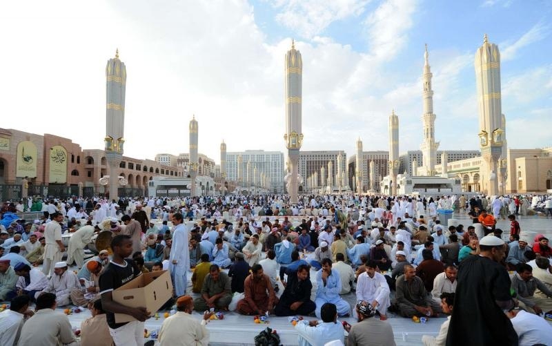
<path fill-rule="evenodd" d="M 308 279 L 308 265 L 299 265 L 297 279 L 290 280 L 276 307 L 276 316 L 308 315 L 316 309 L 311 300 L 313 284 Z"/>

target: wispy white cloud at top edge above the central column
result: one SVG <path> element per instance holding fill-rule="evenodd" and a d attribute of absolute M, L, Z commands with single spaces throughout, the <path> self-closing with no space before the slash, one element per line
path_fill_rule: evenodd
<path fill-rule="evenodd" d="M 369 0 L 275 0 L 276 20 L 305 38 L 321 34 L 334 21 L 357 17 Z"/>

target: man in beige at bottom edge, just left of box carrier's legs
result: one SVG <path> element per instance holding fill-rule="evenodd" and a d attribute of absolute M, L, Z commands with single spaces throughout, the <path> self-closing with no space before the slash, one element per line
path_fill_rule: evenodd
<path fill-rule="evenodd" d="M 101 306 L 101 299 L 91 303 L 92 317 L 81 322 L 81 346 L 112 345 L 113 338 L 109 334 L 106 312 Z"/>

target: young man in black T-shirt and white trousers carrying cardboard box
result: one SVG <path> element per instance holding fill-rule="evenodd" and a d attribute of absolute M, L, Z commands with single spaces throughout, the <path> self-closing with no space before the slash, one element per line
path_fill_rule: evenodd
<path fill-rule="evenodd" d="M 115 345 L 144 345 L 144 321 L 150 317 L 145 307 L 126 307 L 115 302 L 112 291 L 130 282 L 141 273 L 128 256 L 132 254 L 132 238 L 126 235 L 115 236 L 111 240 L 113 259 L 99 277 L 101 304 L 106 311 L 109 332 Z M 115 323 L 115 313 L 127 314 L 136 318 L 127 323 Z"/>

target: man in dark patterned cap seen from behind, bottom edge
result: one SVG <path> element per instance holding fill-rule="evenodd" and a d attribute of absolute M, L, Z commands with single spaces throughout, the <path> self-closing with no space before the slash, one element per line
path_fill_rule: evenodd
<path fill-rule="evenodd" d="M 391 325 L 383 320 L 372 318 L 377 309 L 366 300 L 359 300 L 355 309 L 358 323 L 344 325 L 348 331 L 347 345 L 388 345 L 395 346 L 395 336 Z"/>

